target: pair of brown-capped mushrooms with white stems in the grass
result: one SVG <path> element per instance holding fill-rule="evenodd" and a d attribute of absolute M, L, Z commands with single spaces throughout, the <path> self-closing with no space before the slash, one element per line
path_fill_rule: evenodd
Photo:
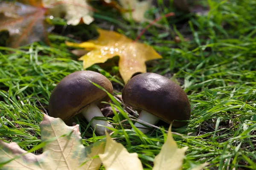
<path fill-rule="evenodd" d="M 67 121 L 81 113 L 88 122 L 95 116 L 104 117 L 99 106 L 109 97 L 89 80 L 113 94 L 113 86 L 107 77 L 94 71 L 76 71 L 64 77 L 52 91 L 49 99 L 50 116 Z M 150 124 L 162 119 L 174 127 L 181 127 L 186 122 L 180 121 L 190 117 L 186 93 L 179 85 L 159 74 L 143 73 L 131 78 L 122 90 L 122 100 L 125 105 L 142 110 L 138 119 Z M 107 120 L 94 119 L 91 123 L 99 135 L 104 135 L 105 129 L 111 131 L 104 126 L 113 128 Z M 135 126 L 145 127 L 138 122 Z M 141 131 L 147 133 L 149 130 Z"/>

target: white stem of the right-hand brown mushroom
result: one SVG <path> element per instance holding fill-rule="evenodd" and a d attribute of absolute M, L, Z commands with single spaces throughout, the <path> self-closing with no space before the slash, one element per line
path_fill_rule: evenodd
<path fill-rule="evenodd" d="M 149 124 L 152 124 L 152 125 L 154 125 L 159 120 L 159 118 L 157 116 L 154 116 L 153 114 L 148 113 L 147 111 L 144 111 L 144 110 L 142 110 L 140 112 L 140 116 L 138 117 L 138 119 L 142 120 L 144 122 L 147 122 Z M 145 127 L 138 122 L 136 122 L 134 125 L 136 127 Z M 150 131 L 150 129 L 142 129 L 142 128 L 139 128 L 139 129 L 142 133 L 148 133 Z M 133 130 L 133 128 L 132 128 L 132 130 Z"/>

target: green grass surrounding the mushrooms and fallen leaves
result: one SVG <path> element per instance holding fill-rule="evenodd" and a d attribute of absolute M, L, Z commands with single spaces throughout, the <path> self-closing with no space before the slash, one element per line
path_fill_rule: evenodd
<path fill-rule="evenodd" d="M 149 18 L 174 10 L 164 6 L 162 0 L 157 2 L 161 8 L 151 8 L 146 14 Z M 160 21 L 167 30 L 152 26 L 141 37 L 142 42 L 152 45 L 163 56 L 148 62 L 148 72 L 169 78 L 172 75 L 189 96 L 192 116 L 188 126 L 172 128 L 183 134 L 174 134 L 178 146 L 189 147 L 185 169 L 206 161 L 210 163 L 209 169 L 256 169 L 256 1 L 204 3 L 211 7 L 207 16 L 175 11 L 175 18 Z M 137 37 L 138 29 L 147 25 L 116 18 L 111 9 L 101 11 L 105 12 L 95 14 L 93 26 L 107 29 L 113 25 L 116 31 L 132 39 Z M 33 43 L 19 49 L 0 47 L 0 139 L 17 142 L 24 150 L 41 142 L 40 110 L 48 108 L 52 89 L 66 75 L 83 70 L 82 62 L 64 45 L 64 40 L 70 40 L 66 35 L 73 31 L 77 37 L 82 36 L 80 40 L 87 40 L 93 26 L 52 33 L 52 46 Z M 173 40 L 175 36 L 180 37 L 180 43 Z M 123 83 L 115 67 L 94 65 L 90 70 L 99 71 L 113 82 L 114 96 L 121 94 Z M 116 114 L 121 120 L 126 119 L 125 110 L 129 110 L 123 105 L 118 108 Z M 118 123 L 117 120 L 113 122 Z M 76 123 L 81 125 L 84 145 L 104 137 L 93 137 L 90 127 L 86 130 L 85 120 L 77 118 Z M 128 129 L 124 132 L 119 126 L 116 129 L 120 130 L 112 137 L 129 152 L 138 153 L 143 166 L 151 169 L 166 133 L 155 129 L 142 137 Z"/>

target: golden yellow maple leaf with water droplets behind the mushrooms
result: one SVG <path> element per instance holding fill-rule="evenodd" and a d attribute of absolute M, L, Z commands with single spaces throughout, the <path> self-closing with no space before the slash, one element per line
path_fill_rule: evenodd
<path fill-rule="evenodd" d="M 115 31 L 98 29 L 99 38 L 81 44 L 66 42 L 68 46 L 91 50 L 79 60 L 83 61 L 84 68 L 96 63 L 106 62 L 108 59 L 119 56 L 119 73 L 125 84 L 135 73 L 145 73 L 145 62 L 152 59 L 160 59 L 162 56 L 149 45 L 134 42 L 133 40 Z M 88 48 L 87 48 L 88 45 Z"/>

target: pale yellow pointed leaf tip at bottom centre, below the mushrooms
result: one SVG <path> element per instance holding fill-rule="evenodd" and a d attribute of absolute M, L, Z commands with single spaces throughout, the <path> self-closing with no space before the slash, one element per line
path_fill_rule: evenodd
<path fill-rule="evenodd" d="M 128 153 L 125 147 L 111 139 L 106 132 L 106 146 L 103 154 L 99 154 L 106 170 L 143 170 L 137 153 Z"/>

